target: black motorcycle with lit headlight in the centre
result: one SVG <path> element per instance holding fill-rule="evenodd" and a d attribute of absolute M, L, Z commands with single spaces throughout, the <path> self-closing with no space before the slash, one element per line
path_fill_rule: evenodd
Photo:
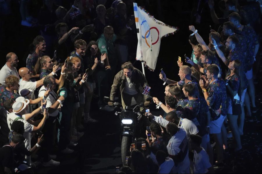
<path fill-rule="evenodd" d="M 109 97 L 104 97 L 105 103 L 109 101 Z M 143 103 L 137 104 L 133 109 L 130 106 L 125 108 L 118 102 L 114 102 L 112 108 L 120 108 L 121 112 L 116 111 L 115 115 L 119 116 L 121 120 L 121 159 L 125 164 L 126 157 L 130 154 L 130 146 L 136 141 L 136 137 L 139 135 L 139 131 L 136 131 L 139 120 L 142 115 L 139 111 L 139 107 L 144 106 Z"/>

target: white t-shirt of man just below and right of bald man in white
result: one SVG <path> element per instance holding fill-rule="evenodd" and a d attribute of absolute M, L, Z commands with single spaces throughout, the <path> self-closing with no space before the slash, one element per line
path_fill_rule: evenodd
<path fill-rule="evenodd" d="M 43 97 L 46 92 L 45 86 L 42 86 L 38 93 L 38 98 Z M 55 97 L 55 98 L 54 98 Z M 55 102 L 56 102 L 56 93 L 52 90 L 50 91 L 48 97 L 46 97 L 46 108 L 50 108 Z M 38 104 L 41 105 L 41 104 Z M 56 109 L 53 113 L 49 113 L 49 116 L 56 117 L 58 115 L 59 111 Z"/>

